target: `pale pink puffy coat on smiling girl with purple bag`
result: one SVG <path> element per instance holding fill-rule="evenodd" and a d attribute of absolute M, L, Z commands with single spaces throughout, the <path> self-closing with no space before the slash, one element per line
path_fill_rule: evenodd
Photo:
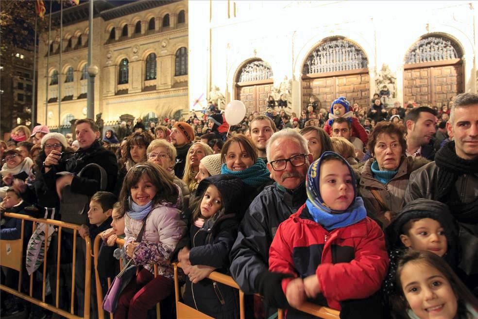
<path fill-rule="evenodd" d="M 180 196 L 178 203 L 181 200 L 179 198 Z M 176 208 L 178 203 L 171 205 L 163 202 L 154 207 L 146 218 L 143 240 L 133 253 L 136 265 L 145 266 L 153 272 L 156 264 L 158 274 L 171 279 L 174 272 L 169 262 L 170 254 L 186 230 L 186 223 L 180 219 L 180 212 Z M 128 213 L 124 215 L 125 248 L 132 241 L 136 241 L 142 226 L 142 220 L 132 219 Z"/>

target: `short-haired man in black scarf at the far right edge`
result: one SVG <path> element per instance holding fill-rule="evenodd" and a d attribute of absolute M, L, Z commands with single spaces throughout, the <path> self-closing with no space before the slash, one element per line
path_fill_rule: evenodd
<path fill-rule="evenodd" d="M 435 161 L 410 175 L 405 202 L 428 198 L 450 207 L 459 224 L 459 267 L 478 287 L 478 94 L 462 93 L 450 111 L 446 129 L 453 141 L 436 154 Z"/>

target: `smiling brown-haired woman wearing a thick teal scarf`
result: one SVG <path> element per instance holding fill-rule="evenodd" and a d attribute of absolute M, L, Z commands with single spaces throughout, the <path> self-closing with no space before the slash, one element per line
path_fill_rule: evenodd
<path fill-rule="evenodd" d="M 234 175 L 246 184 L 248 198 L 245 198 L 244 205 L 249 206 L 264 187 L 273 183 L 266 163 L 257 157 L 254 142 L 245 135 L 236 134 L 224 143 L 221 161 L 221 174 Z"/>

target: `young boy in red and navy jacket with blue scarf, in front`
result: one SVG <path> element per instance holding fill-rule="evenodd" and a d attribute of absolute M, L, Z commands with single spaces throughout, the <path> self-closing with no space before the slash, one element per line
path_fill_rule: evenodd
<path fill-rule="evenodd" d="M 280 224 L 269 270 L 282 280 L 289 304 L 306 300 L 341 311 L 341 318 L 381 318 L 374 295 L 389 264 L 385 238 L 357 197 L 355 174 L 334 152 L 324 152 L 307 173 L 307 201 Z M 307 318 L 287 310 L 287 318 Z"/>

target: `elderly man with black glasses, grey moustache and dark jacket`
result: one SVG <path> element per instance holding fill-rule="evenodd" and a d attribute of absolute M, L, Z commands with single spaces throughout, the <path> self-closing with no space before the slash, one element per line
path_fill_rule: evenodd
<path fill-rule="evenodd" d="M 306 202 L 306 174 L 313 159 L 307 140 L 289 128 L 273 134 L 266 154 L 275 182 L 257 195 L 245 213 L 231 251 L 230 270 L 245 293 L 264 297 L 268 318 L 287 306 L 281 288 L 285 275 L 268 270 L 269 247 L 279 224 Z"/>

